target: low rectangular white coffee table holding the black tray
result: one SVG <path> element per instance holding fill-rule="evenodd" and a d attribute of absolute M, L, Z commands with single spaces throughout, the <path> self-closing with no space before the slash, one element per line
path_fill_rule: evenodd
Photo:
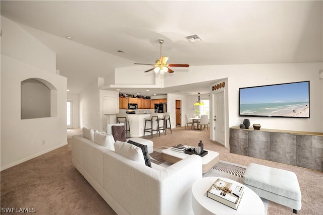
<path fill-rule="evenodd" d="M 214 165 L 219 163 L 219 153 L 206 150 L 207 155 L 202 157 L 202 172 L 206 173 L 208 172 Z M 183 160 L 184 158 L 187 158 L 190 156 L 189 154 L 185 153 L 180 153 L 180 152 L 175 152 L 172 150 L 172 148 L 168 148 L 166 150 L 161 151 L 161 159 L 171 162 L 171 163 L 176 163 L 180 160 Z"/>

